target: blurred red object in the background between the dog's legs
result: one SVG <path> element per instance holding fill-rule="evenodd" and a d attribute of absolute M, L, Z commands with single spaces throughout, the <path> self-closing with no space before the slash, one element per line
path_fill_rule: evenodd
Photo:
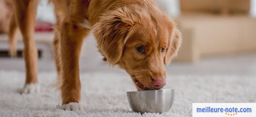
<path fill-rule="evenodd" d="M 37 21 L 37 23 L 35 25 L 35 31 L 36 32 L 51 32 L 51 31 L 53 31 L 53 26 L 54 25 L 52 23 Z"/>

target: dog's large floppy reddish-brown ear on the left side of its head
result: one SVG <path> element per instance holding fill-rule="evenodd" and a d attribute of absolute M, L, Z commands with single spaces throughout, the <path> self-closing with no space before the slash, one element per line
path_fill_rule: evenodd
<path fill-rule="evenodd" d="M 99 51 L 110 64 L 116 64 L 121 58 L 132 26 L 132 20 L 124 16 L 122 9 L 103 14 L 93 26 Z"/>

